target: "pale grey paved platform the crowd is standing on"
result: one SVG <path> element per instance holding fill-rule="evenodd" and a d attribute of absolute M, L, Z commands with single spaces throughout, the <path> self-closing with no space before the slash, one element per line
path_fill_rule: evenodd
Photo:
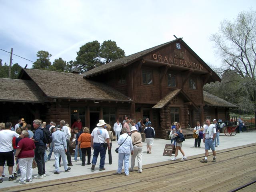
<path fill-rule="evenodd" d="M 246 144 L 252 144 L 256 142 L 256 131 L 253 132 L 243 132 L 240 134 L 236 134 L 236 136 L 225 136 L 224 134 L 220 134 L 220 147 L 216 147 L 216 152 L 217 152 L 217 160 L 218 159 L 218 150 L 222 150 L 222 149 L 227 149 L 227 148 L 232 148 L 235 146 L 242 146 L 242 145 L 246 145 Z M 143 164 L 151 164 L 151 163 L 156 163 L 156 162 L 163 162 L 166 160 L 170 160 L 170 156 L 163 156 L 163 152 L 164 152 L 164 146 L 165 144 L 170 144 L 170 140 L 165 140 L 165 139 L 155 139 L 154 140 L 154 144 L 152 146 L 152 154 L 147 154 L 146 153 L 146 143 L 143 143 L 143 160 L 142 163 Z M 118 154 L 116 154 L 116 152 L 114 152 L 114 149 L 118 147 L 117 142 L 113 141 L 112 142 L 112 159 L 113 162 L 112 164 L 108 164 L 108 154 L 106 155 L 106 161 L 105 161 L 105 168 L 106 171 L 111 171 L 113 170 L 113 172 L 116 171 L 116 169 L 118 168 Z M 201 148 L 193 148 L 194 147 L 194 139 L 186 139 L 183 144 L 182 144 L 182 149 L 184 150 L 186 156 L 189 158 L 189 156 L 194 156 L 197 154 L 202 154 L 202 156 L 204 155 L 204 143 L 201 143 Z M 48 154 L 48 152 L 47 152 Z M 210 154 L 212 154 L 212 152 L 210 151 Z M 182 158 L 182 154 L 179 152 L 178 157 L 177 158 Z M 73 157 L 72 157 L 73 159 Z M 92 159 L 92 158 L 91 158 Z M 86 157 L 87 160 L 87 157 Z M 61 166 L 60 167 L 60 174 L 56 175 L 53 174 L 54 173 L 54 167 L 52 166 L 54 164 L 54 156 L 52 155 L 52 158 L 50 161 L 48 161 L 45 165 L 46 165 L 46 177 L 44 179 L 33 179 L 32 183 L 35 182 L 42 182 L 42 181 L 47 181 L 47 180 L 55 180 L 55 179 L 60 179 L 60 178 L 68 178 L 68 177 L 72 177 L 72 176 L 79 176 L 79 175 L 85 175 L 85 174 L 92 174 L 92 173 L 97 173 L 97 172 L 105 172 L 105 171 L 99 171 L 99 158 L 98 158 L 98 162 L 96 164 L 95 170 L 92 171 L 91 170 L 91 166 L 90 165 L 86 165 L 86 166 L 81 166 L 82 162 L 81 161 L 77 161 L 77 162 L 73 162 L 73 166 L 71 167 L 71 171 L 70 172 L 64 172 L 64 167 Z M 137 163 L 135 164 L 135 166 L 137 165 Z M 16 166 L 14 166 L 14 169 L 16 168 Z M 143 169 L 143 166 L 142 166 Z M 8 173 L 8 167 L 4 168 L 4 172 Z M 35 168 L 33 170 L 33 176 L 37 175 L 37 168 Z M 4 177 L 3 178 L 3 182 L 0 184 L 0 191 L 4 191 L 3 188 L 5 187 L 11 187 L 11 186 L 17 186 L 17 185 L 22 185 L 22 184 L 18 184 L 19 181 L 19 177 L 17 178 L 16 181 L 8 181 L 8 177 Z"/>

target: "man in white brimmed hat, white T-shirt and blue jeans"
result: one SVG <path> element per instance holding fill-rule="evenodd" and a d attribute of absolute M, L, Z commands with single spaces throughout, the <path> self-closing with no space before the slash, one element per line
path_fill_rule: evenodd
<path fill-rule="evenodd" d="M 91 133 L 91 147 L 94 149 L 93 158 L 92 158 L 92 170 L 94 170 L 98 155 L 100 153 L 100 171 L 105 170 L 105 158 L 106 158 L 106 150 L 104 150 L 105 140 L 108 144 L 108 150 L 110 149 L 109 143 L 109 135 L 108 131 L 104 129 L 105 124 L 107 124 L 104 120 L 99 120 L 97 127 L 92 130 Z"/>

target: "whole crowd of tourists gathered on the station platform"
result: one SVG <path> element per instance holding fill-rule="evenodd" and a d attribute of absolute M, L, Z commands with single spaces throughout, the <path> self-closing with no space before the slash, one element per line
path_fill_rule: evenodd
<path fill-rule="evenodd" d="M 31 131 L 33 126 L 34 130 Z M 32 179 L 43 179 L 46 177 L 45 163 L 51 160 L 52 152 L 54 153 L 54 174 L 60 174 L 61 159 L 64 172 L 71 170 L 72 162 L 78 161 L 79 157 L 82 166 L 91 165 L 91 170 L 95 170 L 95 166 L 100 155 L 99 170 L 105 170 L 105 159 L 108 154 L 108 163 L 112 164 L 112 141 L 117 141 L 119 145 L 115 152 L 118 153 L 118 169 L 117 174 L 122 174 L 124 165 L 124 174 L 129 176 L 129 171 L 134 171 L 137 159 L 138 173 L 142 173 L 142 133 L 146 139 L 147 154 L 152 153 L 152 145 L 154 143 L 155 131 L 152 123 L 148 118 L 145 124 L 139 118 L 137 122 L 129 119 L 128 116 L 119 122 L 119 119 L 113 125 L 114 133 L 111 131 L 110 124 L 104 120 L 99 120 L 96 127 L 90 133 L 90 129 L 82 127 L 81 120 L 78 119 L 70 128 L 64 120 L 58 125 L 55 122 L 42 122 L 42 120 L 34 120 L 33 125 L 27 124 L 24 119 L 18 120 L 18 123 L 12 127 L 10 122 L 0 123 L 0 183 L 3 181 L 4 166 L 8 166 L 8 181 L 14 181 L 20 176 L 18 183 L 26 184 L 32 182 Z M 70 138 L 75 146 L 74 159 L 71 160 L 70 154 Z M 200 122 L 194 127 L 195 138 L 194 148 L 200 148 L 201 140 L 205 144 L 205 158 L 201 162 L 208 162 L 208 150 L 212 150 L 213 160 L 216 162 L 215 147 L 219 147 L 220 126 L 213 120 L 213 124 L 206 119 L 203 126 Z M 181 160 L 186 160 L 185 152 L 182 150 L 182 142 L 185 140 L 179 122 L 174 122 L 170 131 L 171 144 L 175 146 L 175 155 L 171 160 L 175 161 L 180 151 L 183 155 Z M 46 150 L 49 151 L 48 156 Z M 93 158 L 91 161 L 91 153 L 93 150 Z M 107 153 L 108 151 L 108 153 Z M 131 158 L 130 158 L 131 156 Z M 16 170 L 13 170 L 14 160 L 16 161 Z M 130 169 L 129 169 L 130 165 Z M 32 170 L 37 167 L 38 174 L 32 178 Z"/>

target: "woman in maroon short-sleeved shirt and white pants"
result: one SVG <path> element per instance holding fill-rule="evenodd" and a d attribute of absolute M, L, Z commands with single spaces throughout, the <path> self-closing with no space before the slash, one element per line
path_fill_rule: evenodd
<path fill-rule="evenodd" d="M 19 183 L 25 184 L 32 182 L 32 162 L 35 156 L 34 149 L 36 148 L 33 140 L 29 138 L 28 131 L 22 131 L 21 135 L 24 137 L 18 142 L 15 159 L 19 159 L 21 178 Z"/>

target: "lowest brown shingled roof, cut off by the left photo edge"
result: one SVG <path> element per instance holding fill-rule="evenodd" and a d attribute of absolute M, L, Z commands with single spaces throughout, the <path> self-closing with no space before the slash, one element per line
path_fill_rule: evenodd
<path fill-rule="evenodd" d="M 44 103 L 43 92 L 30 80 L 0 78 L 0 101 Z"/>

